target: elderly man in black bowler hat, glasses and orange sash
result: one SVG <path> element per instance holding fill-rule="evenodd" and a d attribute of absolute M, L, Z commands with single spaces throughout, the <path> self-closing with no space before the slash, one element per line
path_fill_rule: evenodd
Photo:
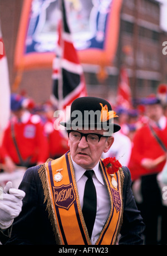
<path fill-rule="evenodd" d="M 100 158 L 120 129 L 115 116 L 104 99 L 72 103 L 70 122 L 61 123 L 70 151 L 26 171 L 22 212 L 7 244 L 110 245 L 118 237 L 119 244 L 143 244 L 130 171 L 114 158 Z"/>

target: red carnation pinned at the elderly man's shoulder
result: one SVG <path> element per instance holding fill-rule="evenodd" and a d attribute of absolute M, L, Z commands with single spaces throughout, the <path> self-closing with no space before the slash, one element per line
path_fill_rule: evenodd
<path fill-rule="evenodd" d="M 107 167 L 107 172 L 109 175 L 114 174 L 119 170 L 121 166 L 120 162 L 115 159 L 115 157 L 107 157 L 103 161 L 104 166 Z"/>

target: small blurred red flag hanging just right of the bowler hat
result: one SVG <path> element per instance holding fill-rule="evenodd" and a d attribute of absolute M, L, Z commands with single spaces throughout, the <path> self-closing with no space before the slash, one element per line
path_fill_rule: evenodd
<path fill-rule="evenodd" d="M 132 107 L 129 76 L 125 67 L 120 69 L 116 105 L 126 109 Z"/>

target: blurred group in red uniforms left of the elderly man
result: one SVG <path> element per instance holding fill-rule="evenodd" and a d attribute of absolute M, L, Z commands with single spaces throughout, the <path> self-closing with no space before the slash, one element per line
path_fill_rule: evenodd
<path fill-rule="evenodd" d="M 67 134 L 53 127 L 54 112 L 50 102 L 35 105 L 24 96 L 11 95 L 11 119 L 0 148 L 5 171 L 39 165 L 68 151 Z"/>

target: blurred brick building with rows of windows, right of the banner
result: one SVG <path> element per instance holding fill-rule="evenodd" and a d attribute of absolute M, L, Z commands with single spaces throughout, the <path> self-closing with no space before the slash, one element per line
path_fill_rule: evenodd
<path fill-rule="evenodd" d="M 120 18 L 119 45 L 114 64 L 108 67 L 110 75 L 105 81 L 106 91 L 114 100 L 119 68 L 124 64 L 134 98 L 156 93 L 160 83 L 167 83 L 167 57 L 162 53 L 162 44 L 167 37 L 160 28 L 160 3 L 155 0 L 124 0 Z M 123 54 L 125 49 L 129 49 L 128 55 Z M 94 75 L 91 74 L 90 78 L 93 83 Z"/>

